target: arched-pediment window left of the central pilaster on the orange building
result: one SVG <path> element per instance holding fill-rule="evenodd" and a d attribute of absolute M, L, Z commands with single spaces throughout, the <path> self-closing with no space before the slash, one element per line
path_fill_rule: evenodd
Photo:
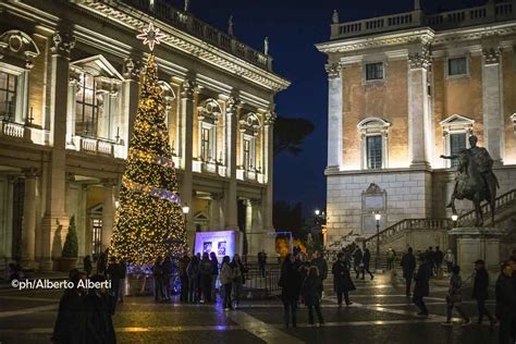
<path fill-rule="evenodd" d="M 367 118 L 357 124 L 361 137 L 361 168 L 388 167 L 388 134 L 391 123 L 380 118 Z"/>

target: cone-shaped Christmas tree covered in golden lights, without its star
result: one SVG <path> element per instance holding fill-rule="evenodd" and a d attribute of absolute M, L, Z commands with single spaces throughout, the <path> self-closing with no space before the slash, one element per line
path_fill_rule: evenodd
<path fill-rule="evenodd" d="M 165 107 L 153 54 L 147 60 L 109 255 L 133 265 L 187 251 Z"/>

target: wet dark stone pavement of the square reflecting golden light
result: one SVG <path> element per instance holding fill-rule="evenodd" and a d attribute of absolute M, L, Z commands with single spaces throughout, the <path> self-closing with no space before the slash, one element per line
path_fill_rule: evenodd
<path fill-rule="evenodd" d="M 298 328 L 284 329 L 279 299 L 244 300 L 238 310 L 224 311 L 220 304 L 155 304 L 151 297 L 127 297 L 113 318 L 118 343 L 497 343 L 496 331 L 472 324 L 443 328 L 445 286 L 431 286 L 428 319 L 416 316 L 400 284 L 383 275 L 355 281 L 354 305 L 339 308 L 331 284 L 325 285 L 324 328 L 308 325 L 306 307 L 298 310 Z M 443 283 L 440 283 L 441 285 Z M 0 287 L 0 344 L 49 343 L 61 291 L 17 291 Z M 476 304 L 464 292 L 465 309 L 476 320 Z M 494 292 L 488 307 L 493 310 Z M 454 319 L 458 321 L 458 319 Z M 486 321 L 486 320 L 484 320 Z"/>

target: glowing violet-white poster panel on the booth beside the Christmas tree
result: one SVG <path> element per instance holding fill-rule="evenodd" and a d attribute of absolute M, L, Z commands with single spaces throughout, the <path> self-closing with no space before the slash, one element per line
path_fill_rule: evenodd
<path fill-rule="evenodd" d="M 214 253 L 218 258 L 238 253 L 235 231 L 197 232 L 195 233 L 195 253 Z"/>

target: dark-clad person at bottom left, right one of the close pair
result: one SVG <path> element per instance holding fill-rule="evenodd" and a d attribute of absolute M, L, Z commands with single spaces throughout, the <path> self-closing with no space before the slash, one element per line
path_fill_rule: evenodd
<path fill-rule="evenodd" d="M 94 275 L 91 282 L 103 282 L 102 275 Z M 109 295 L 103 288 L 90 288 L 85 297 L 86 343 L 114 344 L 113 322 L 111 319 Z"/>

